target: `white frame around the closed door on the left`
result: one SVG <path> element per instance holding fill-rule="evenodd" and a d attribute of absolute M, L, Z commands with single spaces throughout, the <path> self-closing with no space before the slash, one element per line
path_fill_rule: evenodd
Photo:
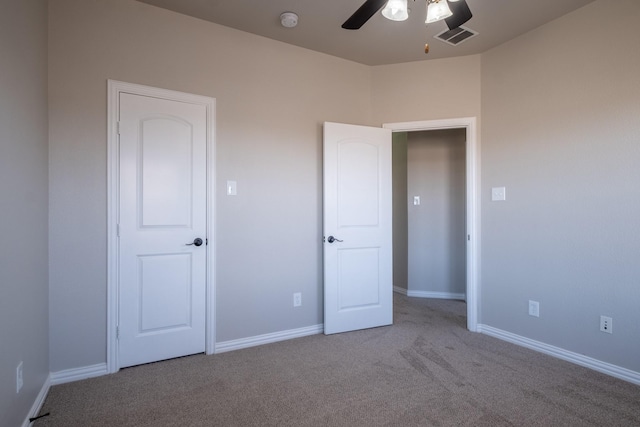
<path fill-rule="evenodd" d="M 215 353 L 215 98 L 108 80 L 107 96 L 107 372 L 120 369 L 118 361 L 118 118 L 121 93 L 204 105 L 207 110 L 207 262 L 205 351 Z"/>

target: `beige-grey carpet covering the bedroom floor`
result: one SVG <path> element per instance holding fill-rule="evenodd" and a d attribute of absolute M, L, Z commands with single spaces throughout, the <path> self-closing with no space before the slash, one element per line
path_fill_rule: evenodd
<path fill-rule="evenodd" d="M 34 426 L 640 426 L 640 387 L 468 332 L 460 301 L 394 325 L 54 386 Z"/>

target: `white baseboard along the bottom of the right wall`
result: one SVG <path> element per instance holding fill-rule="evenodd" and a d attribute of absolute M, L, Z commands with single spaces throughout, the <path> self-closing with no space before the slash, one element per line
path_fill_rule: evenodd
<path fill-rule="evenodd" d="M 567 362 L 575 363 L 576 365 L 593 369 L 594 371 L 602 372 L 603 374 L 611 375 L 612 377 L 620 378 L 621 380 L 625 380 L 633 384 L 640 385 L 640 372 L 635 372 L 630 369 L 612 365 L 611 363 L 602 362 L 592 357 L 574 353 L 560 347 L 555 347 L 553 345 L 545 344 L 540 341 L 525 338 L 523 336 L 503 331 L 501 329 L 496 329 L 487 325 L 479 324 L 478 332 L 480 332 L 481 334 L 490 335 L 503 341 L 510 342 L 512 344 L 530 348 L 531 350 L 539 351 L 540 353 L 557 357 L 558 359 L 566 360 Z"/>

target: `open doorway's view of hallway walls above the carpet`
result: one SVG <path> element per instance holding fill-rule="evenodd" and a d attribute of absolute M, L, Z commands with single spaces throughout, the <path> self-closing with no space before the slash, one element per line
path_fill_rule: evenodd
<path fill-rule="evenodd" d="M 465 300 L 465 138 L 464 129 L 393 135 L 394 283 L 407 296 Z"/>

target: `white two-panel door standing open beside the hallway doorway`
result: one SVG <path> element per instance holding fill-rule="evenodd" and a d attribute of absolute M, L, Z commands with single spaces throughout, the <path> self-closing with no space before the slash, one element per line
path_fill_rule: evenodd
<path fill-rule="evenodd" d="M 391 130 L 325 123 L 325 334 L 393 323 L 391 196 Z"/>

